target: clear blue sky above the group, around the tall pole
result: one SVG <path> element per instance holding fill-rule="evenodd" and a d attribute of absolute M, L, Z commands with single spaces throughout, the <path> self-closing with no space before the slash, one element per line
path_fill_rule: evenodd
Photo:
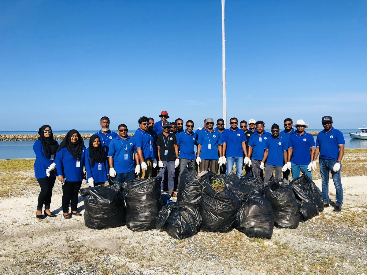
<path fill-rule="evenodd" d="M 227 118 L 367 117 L 367 1 L 226 1 Z M 0 1 L 0 131 L 222 117 L 221 1 Z M 228 125 L 226 125 L 228 126 Z"/>

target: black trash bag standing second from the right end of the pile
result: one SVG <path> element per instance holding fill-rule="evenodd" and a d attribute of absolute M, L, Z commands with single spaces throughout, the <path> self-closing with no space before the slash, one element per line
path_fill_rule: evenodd
<path fill-rule="evenodd" d="M 292 229 L 298 227 L 297 201 L 288 183 L 284 183 L 281 179 L 273 179 L 265 186 L 264 198 L 272 205 L 275 226 Z"/>

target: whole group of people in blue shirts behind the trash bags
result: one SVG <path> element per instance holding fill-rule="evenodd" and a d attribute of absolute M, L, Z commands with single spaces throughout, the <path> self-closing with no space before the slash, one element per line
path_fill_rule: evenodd
<path fill-rule="evenodd" d="M 304 172 L 312 179 L 311 170 L 315 171 L 319 154 L 324 206 L 329 206 L 331 172 L 337 190 L 334 210 L 341 210 L 340 170 L 345 141 L 342 133 L 333 128 L 330 116 L 321 119 L 324 130 L 317 135 L 316 144 L 313 136 L 305 131 L 309 124 L 303 120 L 293 124 L 291 118 L 286 118 L 283 131 L 273 124 L 269 133 L 261 120 L 251 119 L 248 124 L 242 120 L 239 128 L 237 118 L 232 117 L 226 129 L 222 118 L 216 121 L 214 128 L 214 120 L 210 117 L 204 120 L 203 128 L 194 132 L 192 120 L 186 121 L 184 129 L 181 118 L 167 121 L 170 118 L 167 111 L 162 111 L 159 117 L 157 122 L 151 117 L 139 118 L 134 136 L 128 135 L 125 124 L 118 126 L 118 133 L 111 131 L 109 118 L 102 117 L 101 130 L 91 136 L 88 148 L 75 129 L 58 144 L 51 126 L 41 126 L 40 136 L 33 146 L 36 154 L 34 172 L 41 187 L 37 218 L 43 217 L 43 205 L 46 216 L 56 216 L 50 212 L 56 177 L 62 183 L 63 216 L 70 219 L 72 215 L 81 216 L 77 201 L 83 179 L 90 187 L 95 187 L 106 181 L 123 184 L 135 177 L 149 179 L 159 175 L 161 189 L 172 192 L 179 186 L 181 173 L 187 167 L 228 176 L 235 166 L 236 175 L 241 177 L 245 165 L 246 175 L 260 177 L 265 182 L 275 172 L 275 178 L 287 183 L 290 172 L 293 178 Z"/>

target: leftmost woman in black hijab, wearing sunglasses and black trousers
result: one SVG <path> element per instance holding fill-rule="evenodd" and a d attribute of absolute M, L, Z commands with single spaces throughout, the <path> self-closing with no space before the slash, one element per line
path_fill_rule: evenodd
<path fill-rule="evenodd" d="M 49 217 L 56 217 L 50 211 L 52 188 L 55 184 L 56 174 L 52 170 L 55 169 L 54 158 L 56 155 L 58 142 L 54 140 L 54 134 L 50 125 L 43 125 L 39 130 L 40 135 L 33 144 L 33 151 L 36 154 L 34 162 L 34 175 L 41 187 L 38 196 L 37 213 L 38 219 L 43 219 L 42 208 L 45 206 L 44 214 Z"/>

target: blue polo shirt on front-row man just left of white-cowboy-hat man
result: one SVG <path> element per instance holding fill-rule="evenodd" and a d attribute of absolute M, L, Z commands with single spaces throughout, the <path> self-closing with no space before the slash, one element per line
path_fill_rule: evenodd
<path fill-rule="evenodd" d="M 276 139 L 273 135 L 266 139 L 264 149 L 269 150 L 266 164 L 283 166 L 283 151 L 288 150 L 288 143 L 283 136 L 279 135 Z M 286 161 L 287 162 L 287 161 Z"/>

